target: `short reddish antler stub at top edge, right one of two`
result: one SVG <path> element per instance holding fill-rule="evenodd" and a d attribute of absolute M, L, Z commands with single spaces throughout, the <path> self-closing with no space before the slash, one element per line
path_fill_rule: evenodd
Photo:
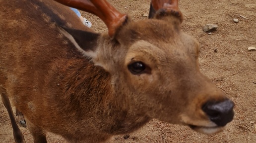
<path fill-rule="evenodd" d="M 183 21 L 183 15 L 178 7 L 178 0 L 151 0 L 151 5 L 155 11 L 163 9 L 166 13 L 170 12 Z"/>

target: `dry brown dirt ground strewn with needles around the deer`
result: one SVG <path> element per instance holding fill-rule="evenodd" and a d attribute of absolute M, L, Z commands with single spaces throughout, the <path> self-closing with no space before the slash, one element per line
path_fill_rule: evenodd
<path fill-rule="evenodd" d="M 109 0 L 118 10 L 141 20 L 148 13 L 150 0 Z M 193 1 L 193 2 L 191 2 Z M 256 0 L 179 0 L 184 14 L 182 31 L 195 37 L 200 45 L 199 64 L 206 74 L 235 103 L 235 118 L 227 129 L 216 135 L 202 135 L 189 127 L 152 120 L 140 130 L 114 143 L 256 143 Z M 104 23 L 88 13 L 92 29 L 106 32 Z M 242 18 L 243 15 L 246 18 Z M 233 18 L 239 20 L 233 22 Z M 206 24 L 218 25 L 211 35 L 202 31 Z M 32 137 L 20 127 L 27 143 Z M 48 135 L 49 143 L 65 143 L 56 135 Z M 12 128 L 0 102 L 0 143 L 14 143 Z"/>

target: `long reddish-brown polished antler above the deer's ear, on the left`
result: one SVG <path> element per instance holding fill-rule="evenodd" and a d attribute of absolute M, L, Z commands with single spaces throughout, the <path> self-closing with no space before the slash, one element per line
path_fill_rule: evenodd
<path fill-rule="evenodd" d="M 127 15 L 120 13 L 107 0 L 55 0 L 66 6 L 77 8 L 98 16 L 107 25 L 109 36 L 113 37 L 123 25 Z"/>

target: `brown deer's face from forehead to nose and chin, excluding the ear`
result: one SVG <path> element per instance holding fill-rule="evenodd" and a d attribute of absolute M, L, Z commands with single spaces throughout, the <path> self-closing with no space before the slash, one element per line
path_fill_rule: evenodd
<path fill-rule="evenodd" d="M 126 50 L 115 62 L 120 85 L 133 92 L 132 106 L 152 118 L 204 134 L 222 131 L 233 118 L 233 103 L 199 72 L 199 44 L 181 33 L 177 23 L 174 17 L 145 20 L 122 31 L 119 41 Z"/>

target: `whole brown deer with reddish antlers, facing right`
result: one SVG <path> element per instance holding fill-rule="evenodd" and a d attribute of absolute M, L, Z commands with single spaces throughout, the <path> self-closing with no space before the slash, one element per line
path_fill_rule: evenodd
<path fill-rule="evenodd" d="M 67 6 L 98 16 L 108 32 L 83 26 Z M 47 143 L 47 132 L 110 143 L 151 119 L 225 130 L 234 103 L 200 72 L 178 0 L 150 7 L 149 19 L 134 21 L 106 0 L 0 0 L 0 94 L 15 142 L 25 139 L 12 107 L 34 143 Z"/>

